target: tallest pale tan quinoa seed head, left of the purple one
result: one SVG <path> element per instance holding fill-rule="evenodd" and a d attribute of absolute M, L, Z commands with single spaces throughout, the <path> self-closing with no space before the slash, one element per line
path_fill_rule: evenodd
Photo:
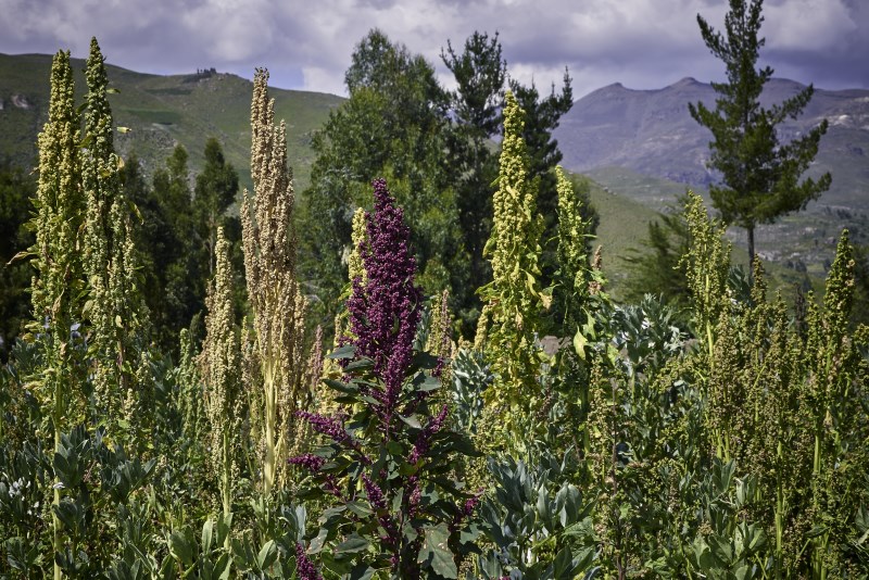
<path fill-rule="evenodd" d="M 306 404 L 304 383 L 305 298 L 295 280 L 295 201 L 287 165 L 287 128 L 274 124 L 274 101 L 267 96 L 268 73 L 256 72 L 251 104 L 251 176 L 255 197 L 244 190 L 241 225 L 244 270 L 252 320 L 248 392 L 260 391 L 251 402 L 260 417 L 257 447 L 263 456 L 261 489 L 264 496 L 282 488 L 286 457 L 301 443 L 293 413 Z M 279 479 L 281 478 L 281 479 Z"/>

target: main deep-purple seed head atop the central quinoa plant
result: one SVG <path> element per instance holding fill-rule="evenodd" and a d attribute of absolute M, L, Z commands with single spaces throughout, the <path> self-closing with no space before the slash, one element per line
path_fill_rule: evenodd
<path fill-rule="evenodd" d="M 382 392 L 371 391 L 378 414 L 388 423 L 411 364 L 419 323 L 423 293 L 414 285 L 416 260 L 408 249 L 410 229 L 395 206 L 383 179 L 375 179 L 374 214 L 367 214 L 367 243 L 360 245 L 367 281 L 353 280 L 347 301 L 356 352 L 374 361 L 374 373 L 383 381 Z"/>

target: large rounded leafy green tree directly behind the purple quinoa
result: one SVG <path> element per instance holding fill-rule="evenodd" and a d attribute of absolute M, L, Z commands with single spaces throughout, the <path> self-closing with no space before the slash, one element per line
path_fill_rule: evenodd
<path fill-rule="evenodd" d="M 375 29 L 356 46 L 345 83 L 350 99 L 314 138 L 317 159 L 304 193 L 302 270 L 324 324 L 339 307 L 353 214 L 370 206 L 378 177 L 407 211 L 421 286 L 428 293 L 449 287 L 462 303 L 471 291 L 468 261 L 443 159 L 446 96 L 434 68 Z"/>

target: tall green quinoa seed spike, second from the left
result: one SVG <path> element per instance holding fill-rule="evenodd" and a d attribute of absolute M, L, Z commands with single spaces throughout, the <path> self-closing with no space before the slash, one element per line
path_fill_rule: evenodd
<path fill-rule="evenodd" d="M 87 61 L 88 81 L 81 185 L 87 196 L 84 230 L 84 266 L 88 301 L 83 316 L 89 323 L 88 342 L 98 413 L 106 425 L 129 425 L 134 414 L 148 416 L 136 404 L 151 400 L 150 380 L 139 354 L 148 341 L 149 315 L 139 281 L 133 219 L 121 189 L 123 165 L 114 152 L 114 124 L 108 101 L 109 78 L 100 46 L 91 39 Z M 124 408 L 126 407 L 126 408 Z M 147 428 L 147 421 L 141 421 Z"/>

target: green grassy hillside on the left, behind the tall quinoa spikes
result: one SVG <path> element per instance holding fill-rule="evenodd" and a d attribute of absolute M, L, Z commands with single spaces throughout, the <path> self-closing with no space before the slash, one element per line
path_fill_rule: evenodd
<path fill-rule="evenodd" d="M 84 67 L 84 61 L 73 59 L 79 102 Z M 47 54 L 0 54 L 0 155 L 24 166 L 36 160 L 36 136 L 48 117 L 50 70 Z M 250 80 L 223 73 L 148 75 L 109 65 L 109 83 L 119 90 L 110 96 L 116 124 L 133 129 L 116 135 L 122 154 L 135 150 L 150 173 L 180 143 L 197 168 L 205 141 L 216 137 L 242 181 L 250 184 Z M 313 162 L 311 135 L 343 99 L 274 88 L 269 94 L 277 118 L 287 122 L 289 161 L 302 188 Z"/>

